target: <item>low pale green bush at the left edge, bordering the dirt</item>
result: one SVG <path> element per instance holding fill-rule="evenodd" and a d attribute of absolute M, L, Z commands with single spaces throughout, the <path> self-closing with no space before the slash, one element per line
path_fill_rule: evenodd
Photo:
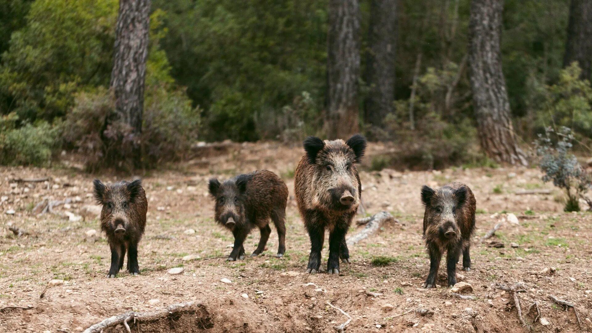
<path fill-rule="evenodd" d="M 15 113 L 0 116 L 0 165 L 49 165 L 57 129 L 46 121 L 17 127 L 18 120 Z"/>

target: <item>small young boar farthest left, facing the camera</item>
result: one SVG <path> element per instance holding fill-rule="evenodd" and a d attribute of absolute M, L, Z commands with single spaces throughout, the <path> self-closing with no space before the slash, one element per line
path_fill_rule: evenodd
<path fill-rule="evenodd" d="M 127 250 L 127 270 L 134 276 L 140 273 L 138 243 L 146 226 L 148 203 L 140 180 L 120 181 L 104 185 L 94 181 L 95 198 L 103 206 L 101 230 L 111 247 L 111 268 L 107 277 L 115 277 L 123 267 Z"/>

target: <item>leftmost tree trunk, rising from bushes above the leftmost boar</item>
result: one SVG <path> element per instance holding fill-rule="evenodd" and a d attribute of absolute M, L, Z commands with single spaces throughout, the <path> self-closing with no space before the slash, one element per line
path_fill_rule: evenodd
<path fill-rule="evenodd" d="M 149 25 L 150 0 L 120 0 L 111 72 L 114 120 L 130 126 L 134 136 L 142 129 Z"/>

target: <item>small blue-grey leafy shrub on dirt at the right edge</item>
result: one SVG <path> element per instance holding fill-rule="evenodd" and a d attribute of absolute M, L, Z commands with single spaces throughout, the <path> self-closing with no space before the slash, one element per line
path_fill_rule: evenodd
<path fill-rule="evenodd" d="M 540 157 L 539 168 L 545 173 L 543 181 L 553 181 L 556 187 L 565 191 L 567 200 L 565 212 L 580 210 L 579 198 L 590 188 L 590 175 L 578 163 L 571 153 L 574 134 L 568 127 L 555 131 L 551 127 L 545 129 L 535 141 L 536 155 Z M 585 198 L 587 201 L 588 199 Z M 590 201 L 588 201 L 590 203 Z"/>

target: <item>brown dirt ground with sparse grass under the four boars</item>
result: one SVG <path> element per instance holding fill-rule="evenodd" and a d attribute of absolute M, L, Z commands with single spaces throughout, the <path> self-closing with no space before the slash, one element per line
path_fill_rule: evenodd
<path fill-rule="evenodd" d="M 369 146 L 362 168 L 385 151 Z M 513 293 L 496 287 L 517 282 L 525 284 L 517 297 L 532 331 L 592 331 L 592 214 L 562 212 L 561 192 L 543 184 L 537 169 L 362 171 L 366 211 L 359 216 L 386 210 L 396 222 L 350 248 L 352 263 L 342 264 L 341 275 L 310 275 L 303 274 L 309 241 L 293 197 L 294 168 L 302 153 L 300 147 L 278 143 L 206 145 L 198 158 L 144 175 L 149 209 L 139 247 L 141 273 L 133 277 L 121 271 L 114 279 L 105 278 L 110 252 L 99 233 L 91 185 L 94 178 L 116 181 L 121 175 L 86 174 L 68 156 L 49 169 L 0 168 L 0 332 L 81 332 L 113 315 L 165 310 L 191 300 L 198 305 L 130 322 L 131 331 L 335 332 L 333 326 L 348 318 L 327 302 L 351 316 L 346 332 L 529 331 L 518 321 Z M 263 256 L 226 262 L 233 238 L 213 221 L 207 180 L 263 168 L 281 175 L 290 190 L 287 253 L 274 257 L 274 230 Z M 45 177 L 49 180 L 15 181 Z M 444 267 L 438 280 L 442 286 L 421 288 L 429 260 L 422 241 L 420 187 L 449 181 L 465 182 L 477 198 L 472 271 L 457 272 L 459 281 L 472 286 L 464 294 L 475 299 L 451 294 Z M 515 194 L 544 189 L 551 193 Z M 36 206 L 43 200 L 67 202 L 40 213 L 43 204 Z M 506 221 L 496 236 L 480 242 L 496 223 L 511 220 L 508 213 L 517 216 L 518 224 Z M 10 227 L 28 235 L 14 235 Z M 352 225 L 348 235 L 362 228 Z M 247 254 L 258 239 L 258 232 L 249 236 Z M 491 241 L 504 247 L 489 247 Z M 326 247 L 327 242 L 324 264 Z M 392 262 L 375 266 L 372 260 L 378 256 Z M 168 274 L 174 267 L 184 271 Z M 566 311 L 549 295 L 574 303 L 581 323 L 573 308 Z M 535 321 L 535 307 L 529 310 L 533 302 L 543 319 Z M 422 315 L 422 309 L 427 313 Z"/>

